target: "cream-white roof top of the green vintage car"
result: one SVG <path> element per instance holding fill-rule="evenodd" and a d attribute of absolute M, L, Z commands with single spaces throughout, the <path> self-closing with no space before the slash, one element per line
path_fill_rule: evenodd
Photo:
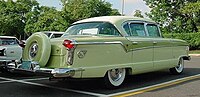
<path fill-rule="evenodd" d="M 154 21 L 152 21 L 150 19 L 138 18 L 138 17 L 133 17 L 133 16 L 101 16 L 101 17 L 93 17 L 93 18 L 80 20 L 73 24 L 85 23 L 85 22 L 110 22 L 112 24 L 117 24 L 117 23 L 121 24 L 125 21 L 133 21 L 133 20 L 155 23 Z"/>

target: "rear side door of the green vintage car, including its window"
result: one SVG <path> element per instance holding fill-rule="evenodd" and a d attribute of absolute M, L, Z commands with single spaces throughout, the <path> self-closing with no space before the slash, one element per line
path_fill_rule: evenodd
<path fill-rule="evenodd" d="M 147 37 L 145 23 L 129 22 L 124 25 L 127 39 L 132 42 L 132 62 L 134 73 L 148 72 L 153 69 L 153 40 Z"/>

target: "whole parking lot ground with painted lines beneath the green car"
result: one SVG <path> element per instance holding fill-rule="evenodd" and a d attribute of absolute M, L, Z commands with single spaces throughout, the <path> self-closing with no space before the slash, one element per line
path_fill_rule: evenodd
<path fill-rule="evenodd" d="M 195 75 L 195 78 L 191 78 L 191 76 Z M 0 96 L 93 97 L 121 95 L 134 97 L 200 97 L 199 75 L 200 57 L 192 57 L 190 62 L 186 61 L 185 70 L 181 75 L 171 75 L 168 71 L 159 71 L 127 76 L 124 84 L 118 89 L 106 89 L 103 86 L 103 79 L 49 81 L 47 77 L 43 76 L 1 72 Z M 185 78 L 185 80 L 176 83 L 177 80 L 182 78 Z M 159 86 L 162 83 L 168 84 Z M 157 88 L 153 88 L 153 86 L 157 86 Z M 151 88 L 147 91 L 147 87 Z"/>

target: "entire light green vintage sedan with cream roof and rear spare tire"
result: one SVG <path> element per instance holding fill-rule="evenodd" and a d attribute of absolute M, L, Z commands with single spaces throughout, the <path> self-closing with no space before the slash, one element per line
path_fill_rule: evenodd
<path fill-rule="evenodd" d="M 43 33 L 29 37 L 23 64 L 15 70 L 50 74 L 53 78 L 104 78 L 120 86 L 126 75 L 169 69 L 180 74 L 188 56 L 183 40 L 162 37 L 149 19 L 103 16 L 73 23 L 61 38 Z M 28 65 L 28 63 L 31 63 Z"/>

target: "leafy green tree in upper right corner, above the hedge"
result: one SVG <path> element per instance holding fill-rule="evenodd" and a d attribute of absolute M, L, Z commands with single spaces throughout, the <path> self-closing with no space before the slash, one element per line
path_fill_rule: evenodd
<path fill-rule="evenodd" d="M 200 0 L 144 0 L 165 33 L 200 32 Z"/>

